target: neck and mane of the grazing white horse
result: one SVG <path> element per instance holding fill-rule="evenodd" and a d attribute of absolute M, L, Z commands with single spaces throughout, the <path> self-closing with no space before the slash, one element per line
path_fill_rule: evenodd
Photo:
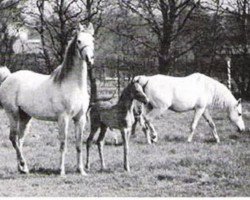
<path fill-rule="evenodd" d="M 205 84 L 208 84 L 207 88 L 209 88 L 212 94 L 212 106 L 227 108 L 236 101 L 231 91 L 224 84 L 208 76 L 204 77 Z"/>

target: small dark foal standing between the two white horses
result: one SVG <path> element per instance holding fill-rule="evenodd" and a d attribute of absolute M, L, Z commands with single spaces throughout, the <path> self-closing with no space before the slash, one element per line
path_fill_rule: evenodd
<path fill-rule="evenodd" d="M 148 98 L 143 92 L 143 87 L 137 82 L 131 82 L 123 90 L 121 97 L 115 105 L 110 105 L 107 102 L 99 102 L 94 104 L 90 110 L 91 132 L 87 139 L 87 158 L 86 168 L 89 169 L 89 151 L 95 133 L 100 128 L 100 134 L 97 139 L 98 151 L 101 160 L 101 169 L 105 169 L 103 159 L 104 137 L 107 128 L 119 129 L 122 134 L 124 146 L 124 169 L 130 171 L 128 153 L 129 153 L 129 138 L 131 128 L 134 123 L 134 99 L 147 104 Z"/>

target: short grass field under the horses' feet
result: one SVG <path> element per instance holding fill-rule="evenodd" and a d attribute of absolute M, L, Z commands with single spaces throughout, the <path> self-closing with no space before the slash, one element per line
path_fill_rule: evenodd
<path fill-rule="evenodd" d="M 216 144 L 205 120 L 187 143 L 193 113 L 171 111 L 154 122 L 157 144 L 148 145 L 138 128 L 130 140 L 131 173 L 123 171 L 123 148 L 111 145 L 107 134 L 104 153 L 109 170 L 100 172 L 97 147 L 91 151 L 91 169 L 81 177 L 76 170 L 73 126 L 68 136 L 65 178 L 58 173 L 59 141 L 55 123 L 33 120 L 24 143 L 31 170 L 20 175 L 16 154 L 8 139 L 9 122 L 0 111 L 0 195 L 1 196 L 250 196 L 250 103 L 244 103 L 248 131 L 236 132 L 226 113 L 213 111 L 221 143 Z M 88 131 L 84 134 L 84 140 Z M 120 138 L 121 140 L 121 138 Z M 85 144 L 84 144 L 85 159 Z"/>

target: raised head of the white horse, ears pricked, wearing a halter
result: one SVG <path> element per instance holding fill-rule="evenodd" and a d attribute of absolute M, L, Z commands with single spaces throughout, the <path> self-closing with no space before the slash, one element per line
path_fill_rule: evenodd
<path fill-rule="evenodd" d="M 92 23 L 88 26 L 79 25 L 77 31 L 76 45 L 79 57 L 91 65 L 94 63 L 94 28 Z"/>

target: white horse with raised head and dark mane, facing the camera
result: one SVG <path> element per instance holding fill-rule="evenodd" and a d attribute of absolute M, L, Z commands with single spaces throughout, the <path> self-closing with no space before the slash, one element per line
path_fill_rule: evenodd
<path fill-rule="evenodd" d="M 10 140 L 17 154 L 18 170 L 28 173 L 22 153 L 25 131 L 31 117 L 57 121 L 61 151 L 60 174 L 65 175 L 64 159 L 70 119 L 76 125 L 77 170 L 85 175 L 82 161 L 82 133 L 89 106 L 87 62 L 94 61 L 93 25 L 79 26 L 69 42 L 65 57 L 51 75 L 27 70 L 10 74 L 0 87 L 0 101 L 10 121 Z"/>

